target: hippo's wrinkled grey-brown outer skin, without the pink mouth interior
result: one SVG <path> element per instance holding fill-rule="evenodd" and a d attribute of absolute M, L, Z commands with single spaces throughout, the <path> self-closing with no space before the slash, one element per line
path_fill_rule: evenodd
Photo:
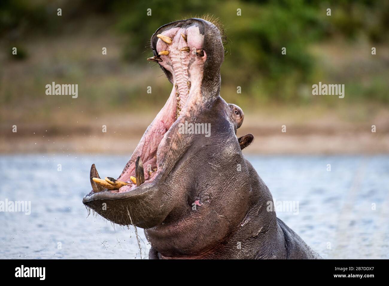
<path fill-rule="evenodd" d="M 149 258 L 320 258 L 266 210 L 272 195 L 241 151 L 253 137 L 236 136 L 243 112 L 242 120 L 234 118 L 235 105 L 219 94 L 224 50 L 217 28 L 202 19 L 162 26 L 151 39 L 154 55 L 156 34 L 182 25 L 201 27 L 207 61 L 199 95 L 159 144 L 158 177 L 126 193 L 91 192 L 84 204 L 114 223 L 144 228 Z M 211 136 L 179 134 L 186 120 L 211 123 Z"/>

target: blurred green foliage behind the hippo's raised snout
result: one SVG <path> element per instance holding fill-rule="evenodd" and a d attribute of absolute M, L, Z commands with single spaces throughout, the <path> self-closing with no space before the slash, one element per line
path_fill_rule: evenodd
<path fill-rule="evenodd" d="M 114 11 L 118 14 L 117 28 L 128 36 L 123 55 L 129 61 L 141 61 L 151 55 L 149 39 L 159 26 L 213 14 L 224 24 L 228 39 L 221 72 L 223 82 L 231 85 L 230 93 L 236 86 L 242 86 L 246 93 L 239 97 L 241 101 L 254 97 L 262 102 L 290 102 L 305 100 L 300 88 L 312 81 L 313 70 L 317 68 L 308 50 L 310 44 L 338 35 L 353 40 L 360 33 L 370 39 L 384 40 L 387 6 L 383 4 L 381 10 L 381 5 L 369 1 L 319 4 L 304 0 L 153 0 L 135 4 L 116 1 Z M 148 8 L 152 16 L 147 16 Z M 242 16 L 237 16 L 237 8 Z M 326 15 L 327 8 L 331 8 L 331 16 Z M 374 17 L 377 19 L 372 21 Z M 286 47 L 286 55 L 281 54 L 282 47 Z M 259 85 L 261 93 L 247 93 L 258 91 Z"/>

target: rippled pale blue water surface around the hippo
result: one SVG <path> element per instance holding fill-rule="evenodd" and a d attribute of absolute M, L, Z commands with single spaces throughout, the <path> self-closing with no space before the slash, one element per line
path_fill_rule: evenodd
<path fill-rule="evenodd" d="M 82 204 L 89 170 L 117 177 L 126 156 L 0 156 L 0 201 L 30 201 L 31 214 L 0 212 L 0 258 L 144 258 L 138 228 L 112 225 Z M 389 156 L 249 156 L 278 202 L 277 216 L 323 258 L 389 258 Z M 61 164 L 61 172 L 58 171 Z M 327 171 L 331 164 L 331 171 Z"/>

